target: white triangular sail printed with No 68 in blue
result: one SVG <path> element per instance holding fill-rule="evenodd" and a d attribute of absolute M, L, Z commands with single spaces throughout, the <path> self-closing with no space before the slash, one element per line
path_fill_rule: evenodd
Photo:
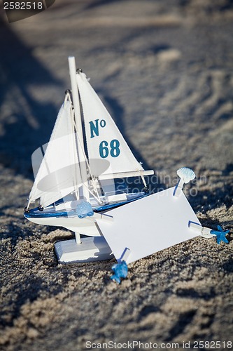
<path fill-rule="evenodd" d="M 87 152 L 92 176 L 102 175 L 102 178 L 114 178 L 114 174 L 121 176 L 122 173 L 143 171 L 111 115 L 87 81 L 86 75 L 80 72 L 76 77 L 83 107 Z"/>

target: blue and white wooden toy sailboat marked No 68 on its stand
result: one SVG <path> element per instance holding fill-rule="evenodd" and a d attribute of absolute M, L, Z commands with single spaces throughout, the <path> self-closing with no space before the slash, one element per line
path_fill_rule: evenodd
<path fill-rule="evenodd" d="M 75 232 L 76 240 L 56 244 L 59 260 L 106 259 L 111 249 L 96 219 L 111 220 L 110 209 L 146 197 L 144 176 L 154 172 L 145 171 L 136 160 L 86 75 L 81 69 L 76 71 L 73 57 L 69 57 L 69 72 L 71 91 L 66 91 L 50 141 L 32 155 L 34 169 L 40 166 L 24 217 Z M 116 190 L 115 179 L 126 177 L 141 177 L 144 190 Z M 39 206 L 30 209 L 37 199 Z M 90 237 L 82 238 L 80 244 L 80 234 Z"/>

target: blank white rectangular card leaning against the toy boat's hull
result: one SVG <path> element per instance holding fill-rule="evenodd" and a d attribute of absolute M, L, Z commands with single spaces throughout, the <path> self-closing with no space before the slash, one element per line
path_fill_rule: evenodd
<path fill-rule="evenodd" d="M 129 249 L 125 259 L 132 263 L 198 236 L 189 222 L 199 223 L 185 194 L 173 196 L 174 187 L 108 211 L 113 222 L 97 220 L 117 260 Z M 199 223 L 200 224 L 200 223 Z"/>

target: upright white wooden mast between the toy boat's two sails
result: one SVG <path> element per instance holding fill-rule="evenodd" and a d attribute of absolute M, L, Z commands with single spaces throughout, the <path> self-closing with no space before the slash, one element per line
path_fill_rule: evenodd
<path fill-rule="evenodd" d="M 74 56 L 69 56 L 69 74 L 71 77 L 71 90 L 72 90 L 72 98 L 73 98 L 73 108 L 74 108 L 74 116 L 77 126 L 76 133 L 78 134 L 78 159 L 80 161 L 80 173 L 81 178 L 83 181 L 83 196 L 85 197 L 86 201 L 89 201 L 90 194 L 88 190 L 88 181 L 87 181 L 87 168 L 86 168 L 86 160 L 85 155 L 83 152 L 84 150 L 84 143 L 83 143 L 83 127 L 81 121 L 81 114 L 80 114 L 80 103 L 79 103 L 79 96 L 78 96 L 78 85 L 76 81 L 76 60 Z"/>

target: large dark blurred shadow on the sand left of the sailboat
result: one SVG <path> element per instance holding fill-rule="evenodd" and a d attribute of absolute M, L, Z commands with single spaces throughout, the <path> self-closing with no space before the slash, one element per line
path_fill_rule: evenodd
<path fill-rule="evenodd" d="M 59 107 L 36 99 L 31 86 L 63 84 L 1 19 L 0 28 L 0 163 L 32 178 L 31 154 L 48 141 Z"/>

